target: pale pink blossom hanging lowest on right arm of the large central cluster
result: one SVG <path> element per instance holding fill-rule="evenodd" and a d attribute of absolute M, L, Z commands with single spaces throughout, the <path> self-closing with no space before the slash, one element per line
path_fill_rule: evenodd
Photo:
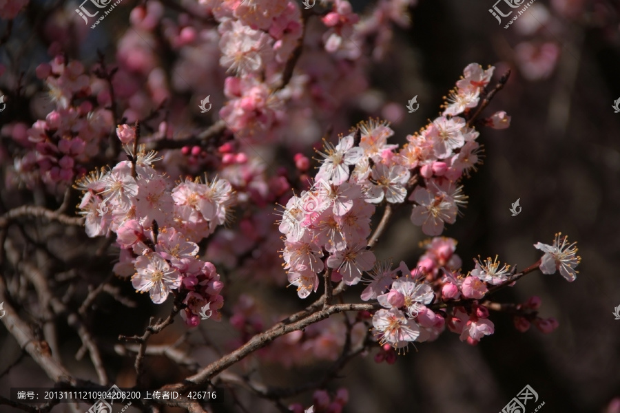
<path fill-rule="evenodd" d="M 418 204 L 411 212 L 411 222 L 422 225 L 426 235 L 440 235 L 444 231 L 444 222 L 453 224 L 456 220 L 458 208 L 455 202 L 442 195 L 418 187 L 409 199 Z"/>

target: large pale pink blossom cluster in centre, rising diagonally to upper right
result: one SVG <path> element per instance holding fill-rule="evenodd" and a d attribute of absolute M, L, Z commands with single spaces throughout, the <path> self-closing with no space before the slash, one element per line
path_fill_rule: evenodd
<path fill-rule="evenodd" d="M 468 65 L 457 88 L 477 103 L 492 74 L 493 68 Z M 439 235 L 444 222 L 455 222 L 466 199 L 457 182 L 478 162 L 479 134 L 456 116 L 468 105 L 448 107 L 449 114 L 408 136 L 400 150 L 387 143 L 393 130 L 375 120 L 341 136 L 338 145 L 326 142 L 315 183 L 287 202 L 280 223 L 285 269 L 300 297 L 316 291 L 318 273 L 326 266 L 347 285 L 358 284 L 362 273 L 373 268 L 375 255 L 366 248 L 366 238 L 380 202 L 415 202 L 411 220 L 428 235 Z M 412 176 L 422 182 L 410 182 Z"/>

